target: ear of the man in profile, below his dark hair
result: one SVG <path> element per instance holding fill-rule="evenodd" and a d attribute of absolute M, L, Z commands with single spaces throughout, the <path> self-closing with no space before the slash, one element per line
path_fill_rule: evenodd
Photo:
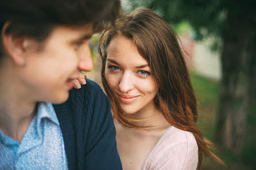
<path fill-rule="evenodd" d="M 30 40 L 25 37 L 14 37 L 13 34 L 5 34 L 10 22 L 6 22 L 2 29 L 3 48 L 15 65 L 26 64 L 26 52 L 30 46 Z"/>

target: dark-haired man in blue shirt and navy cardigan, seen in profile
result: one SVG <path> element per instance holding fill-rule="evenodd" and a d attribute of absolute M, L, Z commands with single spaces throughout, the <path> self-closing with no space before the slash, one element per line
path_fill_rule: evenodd
<path fill-rule="evenodd" d="M 72 89 L 92 69 L 88 40 L 119 7 L 0 1 L 0 169 L 122 169 L 108 98 L 90 80 Z"/>

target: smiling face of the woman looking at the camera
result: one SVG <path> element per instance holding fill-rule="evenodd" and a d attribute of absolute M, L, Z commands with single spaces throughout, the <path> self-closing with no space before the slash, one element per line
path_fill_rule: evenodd
<path fill-rule="evenodd" d="M 111 40 L 107 48 L 105 77 L 127 114 L 146 112 L 155 107 L 156 81 L 148 61 L 139 54 L 131 39 L 118 35 Z"/>

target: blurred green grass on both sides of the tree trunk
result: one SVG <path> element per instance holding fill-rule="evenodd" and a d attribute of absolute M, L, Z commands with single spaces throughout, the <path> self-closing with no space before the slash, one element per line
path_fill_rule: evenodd
<path fill-rule="evenodd" d="M 218 112 L 218 81 L 210 80 L 191 72 L 191 81 L 197 97 L 198 120 L 197 125 L 204 137 L 213 141 L 215 132 L 215 117 Z M 245 137 L 244 151 L 241 156 L 235 156 L 226 148 L 219 148 L 216 153 L 225 163 L 226 167 L 207 159 L 202 170 L 232 169 L 252 170 L 256 169 L 256 114 L 255 106 L 249 109 L 247 117 L 247 131 Z"/>

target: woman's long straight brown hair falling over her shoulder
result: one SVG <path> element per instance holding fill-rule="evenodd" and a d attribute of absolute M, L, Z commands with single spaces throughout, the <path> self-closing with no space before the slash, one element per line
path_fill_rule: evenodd
<path fill-rule="evenodd" d="M 195 136 L 199 148 L 197 169 L 200 169 L 205 157 L 223 164 L 211 152 L 215 150 L 214 145 L 203 137 L 196 125 L 196 97 L 177 35 L 164 19 L 148 9 L 135 10 L 118 19 L 115 27 L 105 30 L 100 37 L 98 51 L 102 57 L 102 82 L 119 124 L 127 128 L 145 128 L 136 124 L 138 120 L 135 117 L 123 112 L 104 76 L 107 48 L 111 39 L 117 35 L 132 39 L 141 56 L 149 62 L 158 85 L 154 103 L 165 119 L 176 128 L 192 132 Z"/>

